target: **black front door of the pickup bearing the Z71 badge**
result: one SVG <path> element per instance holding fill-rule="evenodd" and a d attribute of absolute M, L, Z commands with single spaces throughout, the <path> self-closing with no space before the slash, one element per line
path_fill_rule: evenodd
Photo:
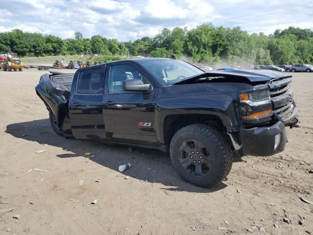
<path fill-rule="evenodd" d="M 151 84 L 149 92 L 126 92 L 122 81 L 141 79 Z M 114 63 L 107 68 L 103 116 L 107 140 L 156 146 L 153 82 L 132 63 Z"/>

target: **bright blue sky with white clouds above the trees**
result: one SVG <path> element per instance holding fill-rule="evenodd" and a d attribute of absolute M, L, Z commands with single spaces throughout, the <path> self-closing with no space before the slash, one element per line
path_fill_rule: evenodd
<path fill-rule="evenodd" d="M 289 26 L 313 29 L 313 0 L 7 0 L 0 7 L 0 32 L 19 28 L 63 39 L 79 31 L 134 41 L 203 23 L 267 35 Z"/>

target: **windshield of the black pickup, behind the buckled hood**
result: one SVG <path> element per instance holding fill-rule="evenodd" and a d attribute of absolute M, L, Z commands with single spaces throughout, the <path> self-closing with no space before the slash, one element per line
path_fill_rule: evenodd
<path fill-rule="evenodd" d="M 169 86 L 188 77 L 203 73 L 201 69 L 181 60 L 148 60 L 140 63 L 163 86 Z"/>

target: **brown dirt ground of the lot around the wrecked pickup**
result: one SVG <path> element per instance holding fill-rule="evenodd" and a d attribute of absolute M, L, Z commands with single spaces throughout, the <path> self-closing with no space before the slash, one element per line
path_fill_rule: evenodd
<path fill-rule="evenodd" d="M 0 71 L 0 210 L 14 209 L 1 235 L 313 234 L 300 200 L 313 201 L 313 73 L 292 74 L 301 127 L 285 151 L 236 159 L 211 189 L 182 181 L 165 153 L 56 135 L 34 90 L 42 73 Z"/>

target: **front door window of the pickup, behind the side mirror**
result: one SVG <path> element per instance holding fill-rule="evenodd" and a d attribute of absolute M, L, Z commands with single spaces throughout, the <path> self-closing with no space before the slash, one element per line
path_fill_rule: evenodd
<path fill-rule="evenodd" d="M 123 92 L 122 81 L 140 79 L 144 84 L 149 84 L 147 79 L 138 71 L 135 67 L 131 65 L 113 65 L 110 69 L 109 76 L 109 93 L 132 93 Z"/>

